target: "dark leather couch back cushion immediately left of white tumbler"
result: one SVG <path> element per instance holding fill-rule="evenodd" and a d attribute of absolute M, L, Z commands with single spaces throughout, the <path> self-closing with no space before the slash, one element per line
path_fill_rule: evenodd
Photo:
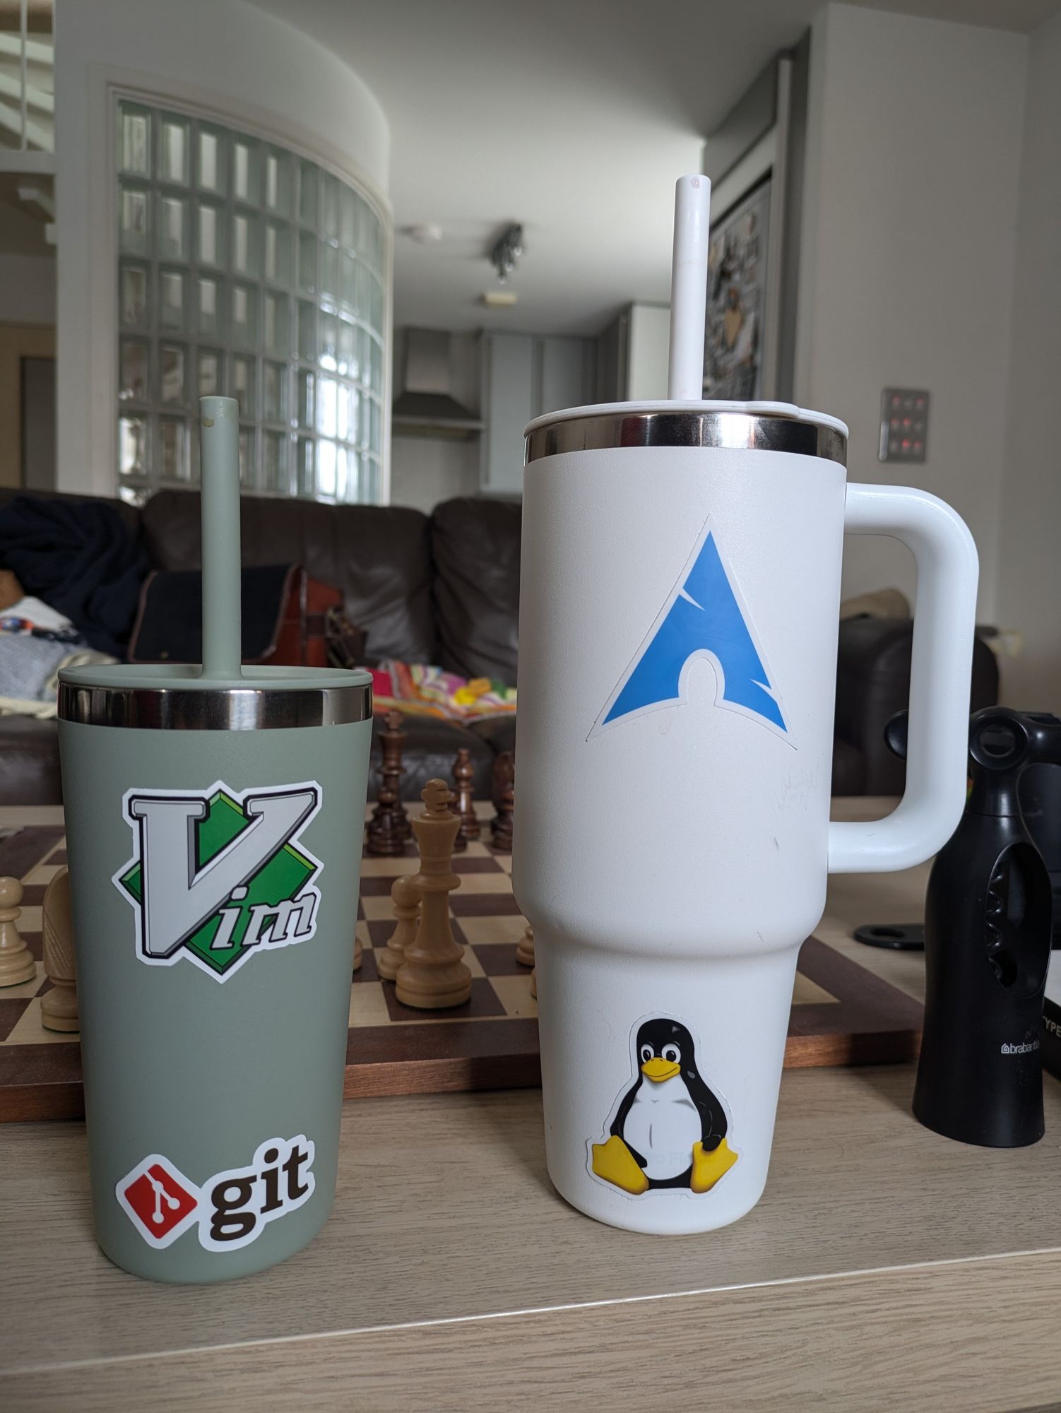
<path fill-rule="evenodd" d="M 459 496 L 431 516 L 439 663 L 516 684 L 521 506 Z"/>

